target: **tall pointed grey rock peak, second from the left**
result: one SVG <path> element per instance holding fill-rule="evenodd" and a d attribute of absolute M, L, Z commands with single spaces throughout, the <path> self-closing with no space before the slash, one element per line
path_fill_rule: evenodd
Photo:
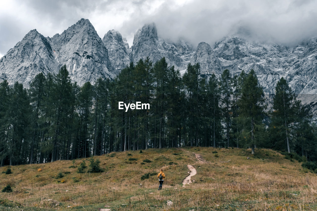
<path fill-rule="evenodd" d="M 88 19 L 81 19 L 48 40 L 59 68 L 66 64 L 71 80 L 77 84 L 115 76 L 109 70 L 108 50 Z"/>

